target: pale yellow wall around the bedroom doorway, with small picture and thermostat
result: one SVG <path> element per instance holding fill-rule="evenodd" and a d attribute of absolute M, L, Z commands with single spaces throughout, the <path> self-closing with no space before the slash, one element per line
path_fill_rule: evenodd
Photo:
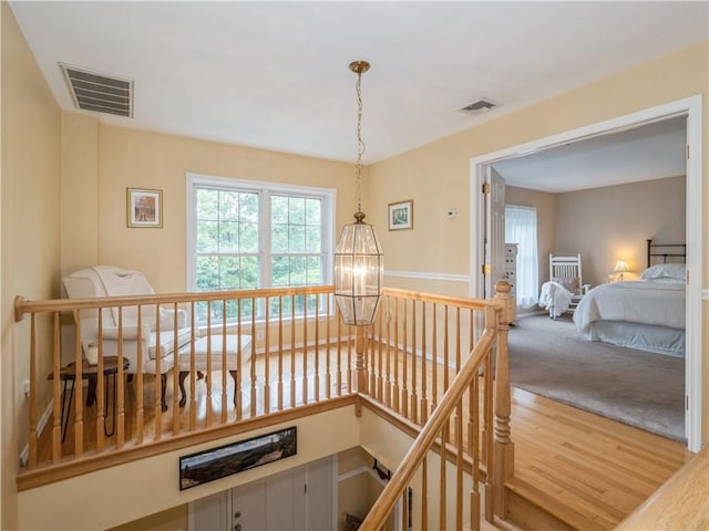
<path fill-rule="evenodd" d="M 709 198 L 709 41 L 372 165 L 367 189 L 374 225 L 386 227 L 389 202 L 405 196 L 413 198 L 415 204 L 413 230 L 405 231 L 405 235 L 381 232 L 387 267 L 419 272 L 469 273 L 470 217 L 475 215 L 470 211 L 471 158 L 696 94 L 703 96 L 701 155 L 706 209 Z M 460 211 L 453 222 L 444 216 L 449 208 Z M 701 227 L 688 230 L 701 230 Z M 705 279 L 709 278 L 708 239 L 705 233 Z M 425 291 L 456 291 L 459 294 L 470 291 L 469 285 L 462 282 L 418 281 L 417 287 Z M 702 322 L 703 330 L 709 330 L 707 301 L 703 302 Z M 702 345 L 702 404 L 707 412 L 709 334 L 703 334 Z M 709 423 L 705 423 L 703 440 L 708 439 Z"/>

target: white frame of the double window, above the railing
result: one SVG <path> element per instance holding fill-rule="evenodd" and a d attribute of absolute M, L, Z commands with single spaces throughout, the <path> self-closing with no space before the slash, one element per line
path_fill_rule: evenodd
<path fill-rule="evenodd" d="M 270 219 L 271 195 L 289 195 L 300 197 L 317 197 L 322 200 L 320 211 L 322 223 L 322 281 L 323 284 L 332 283 L 332 249 L 335 248 L 335 205 L 337 190 L 335 188 L 318 188 L 312 186 L 288 185 L 265 180 L 247 180 L 230 177 L 209 176 L 202 174 L 186 174 L 186 253 L 187 253 L 187 290 L 197 290 L 196 279 L 196 189 L 201 186 L 234 189 L 242 191 L 256 191 L 259 194 L 259 288 L 270 288 L 270 230 L 263 230 L 261 219 Z"/>

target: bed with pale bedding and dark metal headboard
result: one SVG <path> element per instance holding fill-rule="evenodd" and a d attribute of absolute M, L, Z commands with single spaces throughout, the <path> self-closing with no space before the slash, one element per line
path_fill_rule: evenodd
<path fill-rule="evenodd" d="M 590 341 L 682 357 L 685 256 L 684 243 L 648 240 L 648 268 L 639 280 L 589 290 L 574 312 L 576 327 Z"/>

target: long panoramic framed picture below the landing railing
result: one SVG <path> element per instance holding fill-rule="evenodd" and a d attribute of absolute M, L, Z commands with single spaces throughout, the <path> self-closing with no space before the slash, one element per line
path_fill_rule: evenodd
<path fill-rule="evenodd" d="M 296 426 L 179 458 L 179 490 L 295 456 Z"/>

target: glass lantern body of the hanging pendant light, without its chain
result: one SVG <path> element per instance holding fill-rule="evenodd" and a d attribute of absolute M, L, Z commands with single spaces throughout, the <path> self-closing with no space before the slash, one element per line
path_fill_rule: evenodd
<path fill-rule="evenodd" d="M 371 225 L 342 227 L 335 249 L 335 300 L 346 324 L 374 321 L 383 285 L 384 258 Z"/>

